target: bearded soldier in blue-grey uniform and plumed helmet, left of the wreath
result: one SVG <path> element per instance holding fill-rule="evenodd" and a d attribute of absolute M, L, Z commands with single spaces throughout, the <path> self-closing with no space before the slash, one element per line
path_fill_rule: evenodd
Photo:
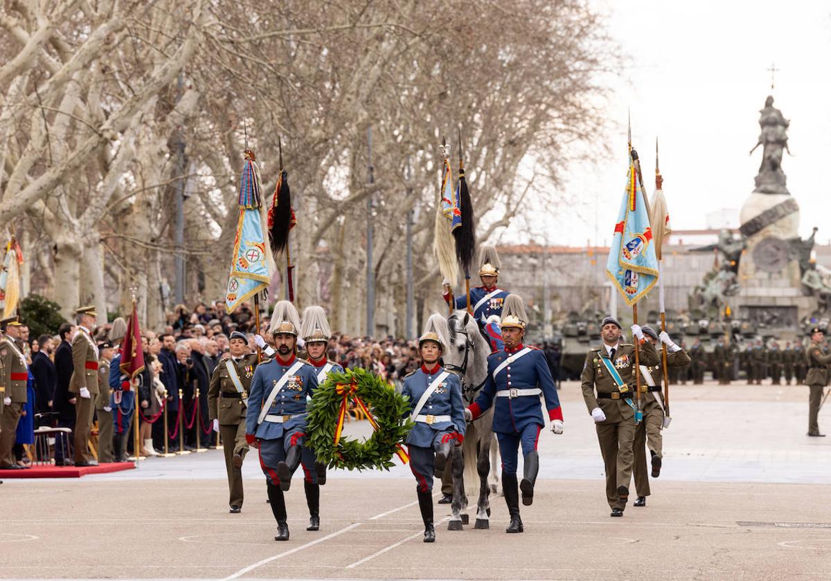
<path fill-rule="evenodd" d="M 283 492 L 288 491 L 292 474 L 300 465 L 306 437 L 306 402 L 317 388 L 317 373 L 306 360 L 297 359 L 300 320 L 288 300 L 274 305 L 268 331 L 277 344 L 277 354 L 254 371 L 245 416 L 245 439 L 259 449 L 268 500 L 277 520 L 278 533 L 274 540 L 288 540 Z"/>

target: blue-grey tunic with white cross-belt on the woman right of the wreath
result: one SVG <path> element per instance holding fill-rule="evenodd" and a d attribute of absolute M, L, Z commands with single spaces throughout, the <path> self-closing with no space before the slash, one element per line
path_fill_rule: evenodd
<path fill-rule="evenodd" d="M 406 376 L 401 395 L 410 398 L 411 412 L 421 396 L 427 391 L 430 383 L 444 371 L 445 369 L 440 365 L 436 365 L 434 369 L 426 369 L 424 365 L 421 365 L 419 369 Z M 430 394 L 430 398 L 427 398 L 419 414 L 450 416 L 450 421 L 416 422 L 407 436 L 406 442 L 411 446 L 432 448 L 435 437 L 441 432 L 453 431 L 464 435 L 465 408 L 462 403 L 462 386 L 459 377 L 456 374 L 449 373 L 440 386 Z"/>

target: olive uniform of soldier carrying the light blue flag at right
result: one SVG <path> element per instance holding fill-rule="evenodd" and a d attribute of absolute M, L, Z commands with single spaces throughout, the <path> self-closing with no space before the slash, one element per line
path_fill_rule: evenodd
<path fill-rule="evenodd" d="M 649 341 L 645 341 L 638 349 L 640 363 L 643 365 L 657 365 L 658 354 Z M 635 348 L 632 344 L 618 344 L 617 351 L 610 359 L 605 345 L 589 350 L 581 374 L 583 399 L 589 413 L 594 408 L 602 409 L 606 420 L 596 422 L 597 442 L 606 469 L 606 498 L 612 509 L 623 510 L 626 501 L 617 494 L 618 486 L 627 489 L 632 480 L 632 463 L 634 452 L 632 444 L 635 440 L 636 424 L 635 412 L 622 398 L 617 383 L 608 373 L 606 365 L 601 359 L 610 360 L 617 373 L 626 382 L 629 396 L 635 396 Z M 635 400 L 632 399 L 632 403 Z"/>

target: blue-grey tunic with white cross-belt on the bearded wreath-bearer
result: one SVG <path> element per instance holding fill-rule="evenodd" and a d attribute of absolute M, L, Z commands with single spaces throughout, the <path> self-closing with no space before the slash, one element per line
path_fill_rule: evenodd
<path fill-rule="evenodd" d="M 286 422 L 268 422 L 263 420 L 259 426 L 257 418 L 263 408 L 273 386 L 283 375 L 293 367 L 297 361 L 302 362 L 299 369 L 292 374 L 283 388 L 274 398 L 268 413 L 275 416 L 297 416 Z M 248 395 L 248 411 L 245 413 L 245 432 L 254 434 L 262 440 L 276 440 L 292 432 L 306 429 L 306 402 L 317 388 L 317 370 L 307 361 L 297 359 L 292 355 L 287 363 L 277 357 L 268 362 L 259 364 L 254 370 L 251 380 L 251 391 Z"/>

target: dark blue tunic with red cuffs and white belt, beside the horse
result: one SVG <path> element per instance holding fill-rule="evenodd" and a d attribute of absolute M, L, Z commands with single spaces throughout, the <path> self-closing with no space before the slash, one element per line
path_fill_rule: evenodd
<path fill-rule="evenodd" d="M 563 419 L 563 412 L 560 409 L 560 401 L 557 397 L 557 388 L 551 377 L 551 370 L 548 369 L 548 362 L 545 354 L 535 347 L 529 353 L 519 359 L 512 359 L 511 362 L 499 370 L 494 379 L 494 370 L 499 367 L 511 355 L 516 355 L 525 349 L 523 344 L 517 345 L 514 349 L 505 349 L 492 353 L 488 356 L 488 377 L 485 379 L 484 387 L 476 398 L 476 402 L 470 406 L 473 417 L 479 417 L 487 411 L 496 398 L 494 409 L 494 432 L 521 433 L 529 424 L 545 426 L 543 413 L 540 410 L 539 396 L 526 395 L 514 398 L 497 397 L 497 393 L 509 392 L 512 389 L 534 389 L 540 388 L 545 398 L 545 408 L 548 410 L 549 419 Z"/>

